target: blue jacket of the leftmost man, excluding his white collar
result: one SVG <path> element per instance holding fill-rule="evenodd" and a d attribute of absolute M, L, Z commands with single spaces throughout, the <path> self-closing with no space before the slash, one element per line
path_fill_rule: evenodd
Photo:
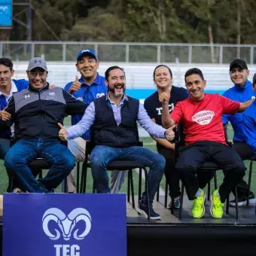
<path fill-rule="evenodd" d="M 15 80 L 12 79 L 12 81 L 14 82 L 14 84 L 17 87 L 17 91 L 20 92 L 23 89 L 26 89 L 29 86 L 29 81 L 26 81 L 25 79 L 20 79 L 20 80 Z M 5 99 L 4 95 L 0 96 L 0 110 L 5 109 L 5 107 L 8 105 L 8 102 Z M 11 128 L 7 127 L 7 128 L 1 128 L 0 129 L 0 138 L 3 139 L 11 139 Z"/>

